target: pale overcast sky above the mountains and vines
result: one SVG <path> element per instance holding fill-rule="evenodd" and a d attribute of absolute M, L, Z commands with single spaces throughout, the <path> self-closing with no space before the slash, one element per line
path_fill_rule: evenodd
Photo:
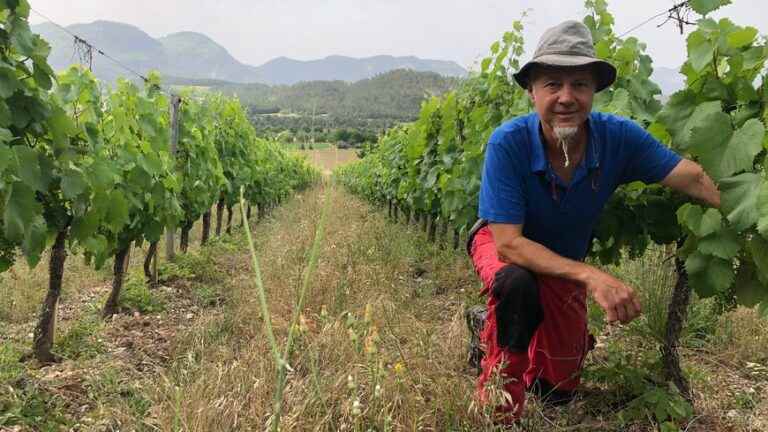
<path fill-rule="evenodd" d="M 471 67 L 486 55 L 524 10 L 527 49 L 544 30 L 584 16 L 582 0 L 30 0 L 32 8 L 63 25 L 111 20 L 154 37 L 205 33 L 238 60 L 260 65 L 285 56 L 311 60 L 340 54 L 415 55 Z M 669 8 L 674 0 L 609 0 L 622 33 Z M 765 0 L 734 0 L 716 16 L 768 34 Z M 657 66 L 677 67 L 685 40 L 656 19 L 632 33 L 648 44 Z M 43 19 L 32 14 L 32 22 Z"/>

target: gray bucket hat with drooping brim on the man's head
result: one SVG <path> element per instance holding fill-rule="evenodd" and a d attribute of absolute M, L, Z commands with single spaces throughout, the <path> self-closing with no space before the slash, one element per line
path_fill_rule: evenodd
<path fill-rule="evenodd" d="M 593 65 L 597 79 L 595 91 L 605 89 L 616 80 L 616 68 L 595 57 L 592 34 L 587 26 L 573 20 L 565 21 L 545 31 L 539 39 L 539 46 L 536 47 L 533 59 L 514 74 L 515 81 L 524 89 L 528 88 L 531 70 L 537 65 L 555 67 Z"/>

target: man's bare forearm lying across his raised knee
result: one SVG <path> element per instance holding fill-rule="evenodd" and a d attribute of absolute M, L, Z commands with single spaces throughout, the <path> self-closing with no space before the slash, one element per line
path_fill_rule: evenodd
<path fill-rule="evenodd" d="M 584 282 L 587 273 L 587 264 L 558 255 L 523 236 L 497 245 L 497 251 L 501 261 L 525 267 L 537 274 Z"/>

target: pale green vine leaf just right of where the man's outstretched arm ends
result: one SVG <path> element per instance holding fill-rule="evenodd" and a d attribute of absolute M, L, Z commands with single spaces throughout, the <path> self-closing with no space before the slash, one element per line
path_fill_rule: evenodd
<path fill-rule="evenodd" d="M 731 226 L 741 232 L 758 220 L 758 190 L 765 181 L 758 174 L 744 173 L 720 181 L 721 208 Z"/>

